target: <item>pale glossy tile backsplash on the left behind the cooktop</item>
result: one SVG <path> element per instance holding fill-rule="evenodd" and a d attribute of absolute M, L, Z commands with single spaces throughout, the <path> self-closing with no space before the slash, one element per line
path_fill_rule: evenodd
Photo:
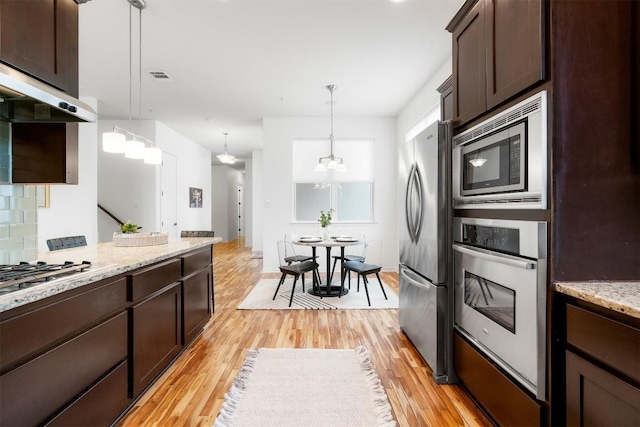
<path fill-rule="evenodd" d="M 0 185 L 0 264 L 38 258 L 35 185 Z"/>

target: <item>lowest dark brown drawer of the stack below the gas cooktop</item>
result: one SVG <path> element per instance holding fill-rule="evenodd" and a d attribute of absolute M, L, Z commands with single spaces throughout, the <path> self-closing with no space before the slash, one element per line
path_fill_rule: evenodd
<path fill-rule="evenodd" d="M 130 402 L 127 372 L 125 360 L 46 425 L 111 425 Z"/>

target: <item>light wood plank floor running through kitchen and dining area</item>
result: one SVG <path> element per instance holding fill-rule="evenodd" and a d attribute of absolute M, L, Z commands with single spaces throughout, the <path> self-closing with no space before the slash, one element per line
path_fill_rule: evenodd
<path fill-rule="evenodd" d="M 214 246 L 212 320 L 119 425 L 212 425 L 252 347 L 358 345 L 372 353 L 400 426 L 491 425 L 460 387 L 434 383 L 400 331 L 397 310 L 237 310 L 262 276 L 262 260 L 250 257 L 242 240 Z M 382 279 L 397 293 L 397 273 Z"/>

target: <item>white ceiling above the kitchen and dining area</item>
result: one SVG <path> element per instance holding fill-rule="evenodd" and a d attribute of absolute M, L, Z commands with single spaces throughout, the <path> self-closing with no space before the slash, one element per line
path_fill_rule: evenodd
<path fill-rule="evenodd" d="M 141 78 L 132 11 L 131 115 L 213 154 L 228 132 L 239 158 L 261 148 L 263 117 L 327 117 L 328 135 L 328 84 L 335 117 L 395 117 L 451 55 L 444 28 L 463 2 L 146 0 Z M 129 10 L 127 0 L 80 5 L 80 95 L 99 100 L 101 120 L 129 118 Z"/>

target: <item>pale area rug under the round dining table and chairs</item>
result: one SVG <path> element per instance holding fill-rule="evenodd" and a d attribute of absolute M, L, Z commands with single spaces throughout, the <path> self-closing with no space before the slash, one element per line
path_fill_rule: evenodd
<path fill-rule="evenodd" d="M 287 279 L 280 290 L 276 299 L 273 299 L 273 293 L 278 287 L 279 279 L 262 279 L 249 292 L 246 298 L 238 306 L 238 310 L 335 310 L 335 309 L 370 309 L 370 308 L 398 308 L 398 296 L 382 282 L 387 298 L 384 299 L 380 285 L 377 279 L 369 280 L 369 298 L 371 306 L 367 305 L 367 294 L 364 291 L 364 285 L 360 282 L 360 292 L 356 291 L 357 285 L 354 279 L 351 280 L 351 290 L 347 295 L 342 297 L 324 297 L 320 298 L 302 291 L 300 280 L 296 284 L 296 291 L 293 294 L 293 303 L 289 307 L 289 297 L 291 296 L 291 283 L 293 279 Z M 345 287 L 347 285 L 345 284 Z M 311 282 L 305 283 L 305 289 L 311 288 Z"/>

